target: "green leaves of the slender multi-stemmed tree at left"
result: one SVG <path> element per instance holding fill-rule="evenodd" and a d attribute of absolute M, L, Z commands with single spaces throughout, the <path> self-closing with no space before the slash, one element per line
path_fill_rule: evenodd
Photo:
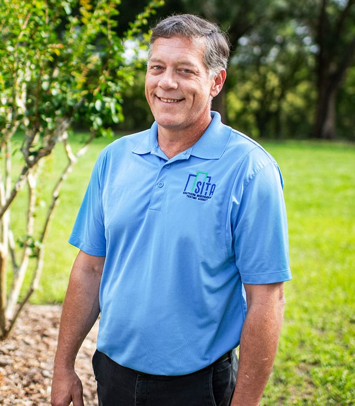
<path fill-rule="evenodd" d="M 0 20 L 0 128 L 53 137 L 57 122 L 80 121 L 100 133 L 123 120 L 121 98 L 131 83 L 125 43 L 141 46 L 153 0 L 118 36 L 120 0 L 2 0 Z"/>

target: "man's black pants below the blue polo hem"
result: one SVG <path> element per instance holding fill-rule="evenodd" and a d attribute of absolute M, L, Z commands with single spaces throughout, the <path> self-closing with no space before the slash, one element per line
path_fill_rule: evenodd
<path fill-rule="evenodd" d="M 230 351 L 193 374 L 139 373 L 96 351 L 93 359 L 99 406 L 228 406 L 238 360 Z"/>

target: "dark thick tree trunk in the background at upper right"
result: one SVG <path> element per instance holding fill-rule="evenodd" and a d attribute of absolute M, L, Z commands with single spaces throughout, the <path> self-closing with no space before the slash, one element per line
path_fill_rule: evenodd
<path fill-rule="evenodd" d="M 317 47 L 314 70 L 317 100 L 311 135 L 334 139 L 338 93 L 355 56 L 355 1 L 297 0 L 288 7 L 288 14 L 308 30 Z"/>

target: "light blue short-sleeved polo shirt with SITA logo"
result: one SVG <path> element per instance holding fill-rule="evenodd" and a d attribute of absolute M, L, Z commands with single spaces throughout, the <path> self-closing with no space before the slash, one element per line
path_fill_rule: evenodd
<path fill-rule="evenodd" d="M 291 279 L 279 168 L 212 116 L 171 159 L 156 123 L 106 147 L 69 239 L 106 256 L 98 350 L 145 373 L 211 364 L 239 344 L 242 283 Z"/>

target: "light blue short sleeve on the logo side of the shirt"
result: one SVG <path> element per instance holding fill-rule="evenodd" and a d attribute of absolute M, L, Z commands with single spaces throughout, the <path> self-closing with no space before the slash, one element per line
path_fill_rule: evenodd
<path fill-rule="evenodd" d="M 283 181 L 275 162 L 259 168 L 235 191 L 233 243 L 243 283 L 291 279 Z"/>

